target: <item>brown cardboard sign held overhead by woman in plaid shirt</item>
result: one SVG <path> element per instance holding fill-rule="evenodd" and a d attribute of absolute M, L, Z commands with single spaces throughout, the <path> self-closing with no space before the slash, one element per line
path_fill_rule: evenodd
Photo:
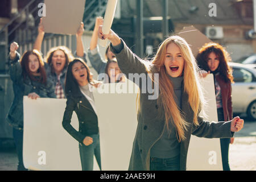
<path fill-rule="evenodd" d="M 85 0 L 45 0 L 46 17 L 43 17 L 44 31 L 53 34 L 75 35 L 82 16 Z"/>

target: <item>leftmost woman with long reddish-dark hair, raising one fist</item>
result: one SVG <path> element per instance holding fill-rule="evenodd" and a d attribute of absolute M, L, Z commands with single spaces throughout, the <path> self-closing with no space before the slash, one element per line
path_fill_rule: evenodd
<path fill-rule="evenodd" d="M 13 137 L 18 153 L 18 170 L 26 170 L 23 165 L 23 96 L 55 98 L 53 82 L 47 79 L 43 58 L 35 49 L 23 54 L 19 61 L 17 43 L 11 43 L 9 74 L 13 81 L 14 100 L 7 121 L 13 127 Z"/>

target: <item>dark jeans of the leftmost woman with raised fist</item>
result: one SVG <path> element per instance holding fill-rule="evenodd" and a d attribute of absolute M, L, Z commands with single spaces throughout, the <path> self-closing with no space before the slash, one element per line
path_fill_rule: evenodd
<path fill-rule="evenodd" d="M 13 128 L 13 138 L 18 155 L 18 171 L 27 171 L 23 164 L 23 130 Z"/>

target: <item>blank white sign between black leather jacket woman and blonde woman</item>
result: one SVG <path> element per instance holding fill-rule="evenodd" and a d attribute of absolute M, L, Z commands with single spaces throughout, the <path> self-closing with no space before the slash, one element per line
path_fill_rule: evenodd
<path fill-rule="evenodd" d="M 129 83 L 129 84 L 128 84 Z M 132 81 L 106 84 L 121 88 L 133 85 L 133 93 L 94 92 L 100 128 L 101 166 L 104 171 L 126 171 L 137 129 L 136 100 L 138 86 Z M 129 86 L 127 86 L 129 90 Z"/>

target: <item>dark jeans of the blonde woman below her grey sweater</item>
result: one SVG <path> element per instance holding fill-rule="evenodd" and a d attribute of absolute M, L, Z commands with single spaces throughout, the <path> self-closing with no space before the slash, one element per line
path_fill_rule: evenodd
<path fill-rule="evenodd" d="M 169 159 L 150 158 L 150 171 L 179 171 L 180 155 Z"/>

